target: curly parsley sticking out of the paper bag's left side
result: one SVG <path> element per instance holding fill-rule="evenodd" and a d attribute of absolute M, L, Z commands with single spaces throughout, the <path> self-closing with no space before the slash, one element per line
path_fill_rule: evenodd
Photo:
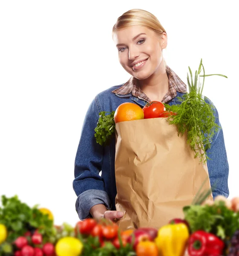
<path fill-rule="evenodd" d="M 115 111 L 102 111 L 99 113 L 99 120 L 95 128 L 95 138 L 96 142 L 102 146 L 109 145 L 110 139 L 115 133 L 114 114 Z"/>

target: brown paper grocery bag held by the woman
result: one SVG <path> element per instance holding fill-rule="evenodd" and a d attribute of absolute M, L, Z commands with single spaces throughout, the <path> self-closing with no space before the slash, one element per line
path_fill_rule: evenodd
<path fill-rule="evenodd" d="M 186 136 L 166 118 L 116 123 L 115 205 L 125 213 L 117 222 L 122 230 L 159 229 L 183 218 L 202 183 L 211 189 L 207 164 L 194 158 Z"/>

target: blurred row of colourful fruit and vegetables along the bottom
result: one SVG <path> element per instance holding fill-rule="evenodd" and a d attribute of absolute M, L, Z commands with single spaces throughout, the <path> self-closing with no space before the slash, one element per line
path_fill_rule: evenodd
<path fill-rule="evenodd" d="M 200 199 L 201 197 L 201 199 Z M 205 196 L 204 196 L 205 198 Z M 236 256 L 239 253 L 239 197 L 202 194 L 159 230 L 119 230 L 112 221 L 87 218 L 75 227 L 55 225 L 50 210 L 2 196 L 1 256 Z M 200 204 L 199 204 L 200 203 Z"/>

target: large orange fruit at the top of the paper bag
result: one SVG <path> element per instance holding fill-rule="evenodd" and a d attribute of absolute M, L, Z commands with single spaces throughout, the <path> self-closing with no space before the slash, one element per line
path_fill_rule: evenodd
<path fill-rule="evenodd" d="M 134 103 L 125 102 L 118 106 L 114 115 L 115 123 L 144 119 L 144 111 Z"/>

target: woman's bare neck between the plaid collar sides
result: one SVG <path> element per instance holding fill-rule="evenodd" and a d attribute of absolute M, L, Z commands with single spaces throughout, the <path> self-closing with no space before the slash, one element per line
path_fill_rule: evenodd
<path fill-rule="evenodd" d="M 169 88 L 169 80 L 164 62 L 162 61 L 155 73 L 147 79 L 138 80 L 138 84 L 151 101 L 161 101 Z"/>

